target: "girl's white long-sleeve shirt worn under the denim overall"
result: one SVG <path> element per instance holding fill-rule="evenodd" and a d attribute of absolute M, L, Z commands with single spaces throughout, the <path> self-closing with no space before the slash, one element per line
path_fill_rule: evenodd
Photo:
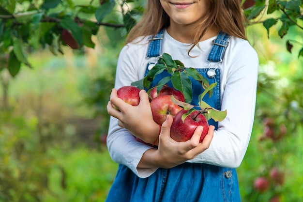
<path fill-rule="evenodd" d="M 183 62 L 185 67 L 208 68 L 206 59 L 213 39 L 215 37 L 200 42 L 200 48 L 196 46 L 190 52 L 190 56 L 195 57 L 189 57 L 191 45 L 176 41 L 165 31 L 162 53 Z M 237 168 L 250 140 L 255 114 L 258 55 L 246 40 L 229 37 L 228 41 L 223 62 L 218 63 L 221 109 L 227 109 L 227 117 L 218 123 L 209 149 L 188 162 Z M 144 78 L 148 64 L 147 49 L 147 37 L 122 48 L 117 64 L 116 89 Z M 136 141 L 128 130 L 118 126 L 114 117 L 110 118 L 107 148 L 115 162 L 126 165 L 139 177 L 148 177 L 157 170 L 137 168 L 142 155 L 151 147 Z"/>

